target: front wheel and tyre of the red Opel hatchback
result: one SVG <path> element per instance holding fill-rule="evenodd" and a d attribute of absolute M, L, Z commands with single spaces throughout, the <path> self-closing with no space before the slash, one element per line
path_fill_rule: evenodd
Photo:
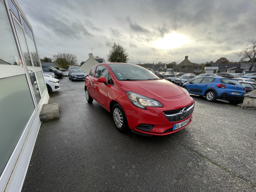
<path fill-rule="evenodd" d="M 118 131 L 125 132 L 128 130 L 128 123 L 124 110 L 118 103 L 116 103 L 112 108 L 112 118 Z"/>

